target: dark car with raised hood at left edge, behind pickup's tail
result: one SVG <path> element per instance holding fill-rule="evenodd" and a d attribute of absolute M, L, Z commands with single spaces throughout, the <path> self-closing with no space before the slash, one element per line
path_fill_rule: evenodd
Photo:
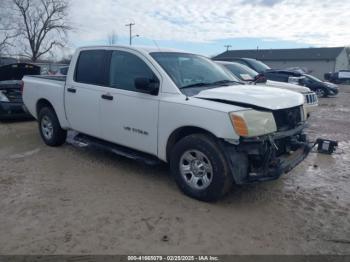
<path fill-rule="evenodd" d="M 0 120 L 30 117 L 22 100 L 22 78 L 39 74 L 40 67 L 27 63 L 0 67 Z"/>

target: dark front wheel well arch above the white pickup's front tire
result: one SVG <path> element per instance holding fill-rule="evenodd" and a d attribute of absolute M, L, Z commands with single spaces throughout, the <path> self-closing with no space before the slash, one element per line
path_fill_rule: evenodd
<path fill-rule="evenodd" d="M 174 132 L 172 132 L 171 135 L 169 136 L 167 146 L 166 146 L 167 161 L 169 161 L 169 155 L 170 155 L 171 149 L 174 147 L 174 145 L 178 141 L 180 141 L 182 138 L 184 138 L 188 135 L 192 135 L 192 134 L 207 134 L 209 136 L 216 137 L 215 135 L 213 135 L 209 131 L 207 131 L 203 128 L 200 128 L 200 127 L 195 127 L 195 126 L 180 127 L 178 129 L 176 129 Z"/>

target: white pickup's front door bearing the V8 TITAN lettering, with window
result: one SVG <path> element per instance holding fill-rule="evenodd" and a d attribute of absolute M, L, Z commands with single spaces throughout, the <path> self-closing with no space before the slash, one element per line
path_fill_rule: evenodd
<path fill-rule="evenodd" d="M 103 88 L 101 100 L 102 138 L 157 155 L 159 98 L 137 90 L 135 79 L 159 82 L 159 75 L 136 51 L 111 51 L 109 64 L 109 87 Z"/>

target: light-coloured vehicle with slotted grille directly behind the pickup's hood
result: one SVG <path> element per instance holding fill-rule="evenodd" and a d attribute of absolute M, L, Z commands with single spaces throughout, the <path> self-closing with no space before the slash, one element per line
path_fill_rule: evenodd
<path fill-rule="evenodd" d="M 277 82 L 266 79 L 263 74 L 259 74 L 258 72 L 254 71 L 253 69 L 249 68 L 248 66 L 245 66 L 240 63 L 236 62 L 226 62 L 226 61 L 216 61 L 217 64 L 225 67 L 230 73 L 232 73 L 237 79 L 240 81 L 247 83 L 247 84 L 258 84 L 258 85 L 264 85 L 268 87 L 275 87 L 275 88 L 281 88 L 281 89 L 287 89 L 290 91 L 298 92 L 303 94 L 305 97 L 305 107 L 308 112 L 308 116 L 312 112 L 312 110 L 318 106 L 318 99 L 315 92 L 312 92 L 309 88 L 290 84 L 290 83 L 283 83 L 283 82 Z M 261 80 L 262 79 L 262 80 Z"/>

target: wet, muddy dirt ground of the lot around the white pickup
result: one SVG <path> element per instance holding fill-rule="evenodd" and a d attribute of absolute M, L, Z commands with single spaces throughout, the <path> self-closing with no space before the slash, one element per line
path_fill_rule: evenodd
<path fill-rule="evenodd" d="M 310 120 L 337 154 L 213 204 L 184 196 L 166 166 L 50 148 L 36 122 L 0 123 L 0 254 L 350 254 L 349 101 L 342 86 Z"/>

